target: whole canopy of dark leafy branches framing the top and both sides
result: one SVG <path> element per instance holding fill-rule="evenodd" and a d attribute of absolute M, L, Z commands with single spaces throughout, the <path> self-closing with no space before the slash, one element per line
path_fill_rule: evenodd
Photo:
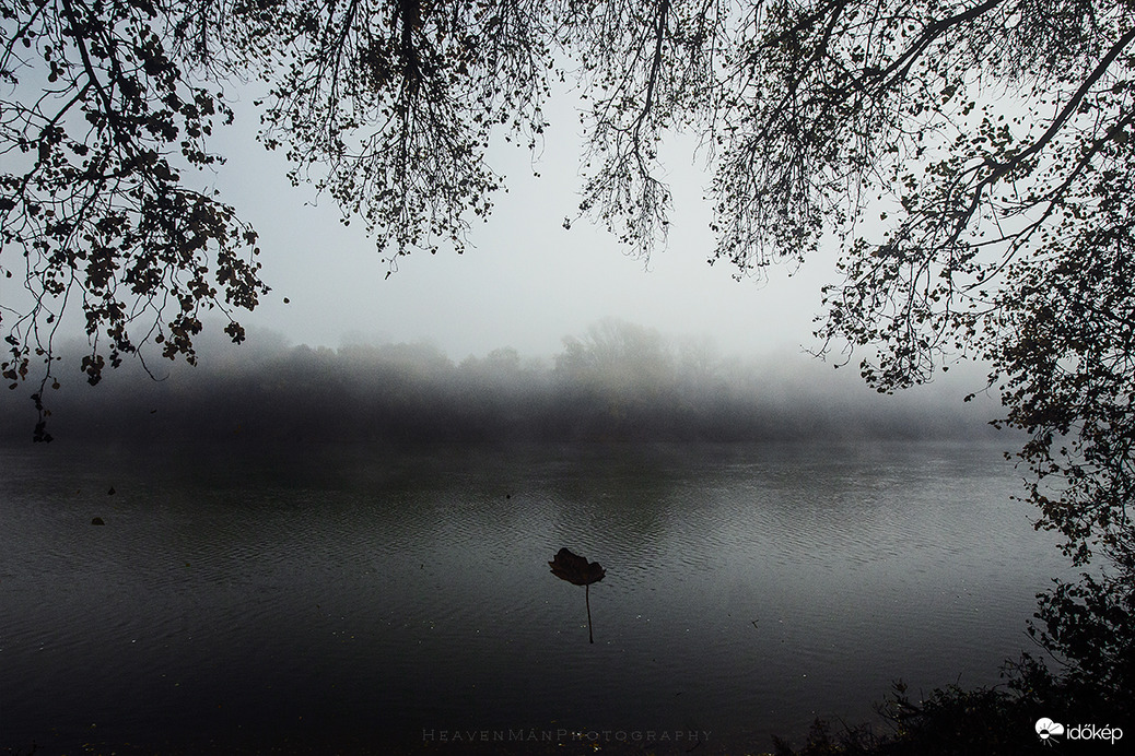
<path fill-rule="evenodd" d="M 52 381 L 79 307 L 92 382 L 267 291 L 257 235 L 187 177 L 258 79 L 269 148 L 390 264 L 452 245 L 535 145 L 553 86 L 587 103 L 577 216 L 665 240 L 658 145 L 712 171 L 711 261 L 765 275 L 821 241 L 823 349 L 882 391 L 957 355 L 1031 433 L 1032 498 L 1069 551 L 1128 547 L 1135 490 L 1132 0 L 3 0 L 3 376 Z M 573 211 L 574 212 L 574 211 Z M 33 363 L 44 367 L 33 371 Z M 42 417 L 37 430 L 44 436 Z"/>

